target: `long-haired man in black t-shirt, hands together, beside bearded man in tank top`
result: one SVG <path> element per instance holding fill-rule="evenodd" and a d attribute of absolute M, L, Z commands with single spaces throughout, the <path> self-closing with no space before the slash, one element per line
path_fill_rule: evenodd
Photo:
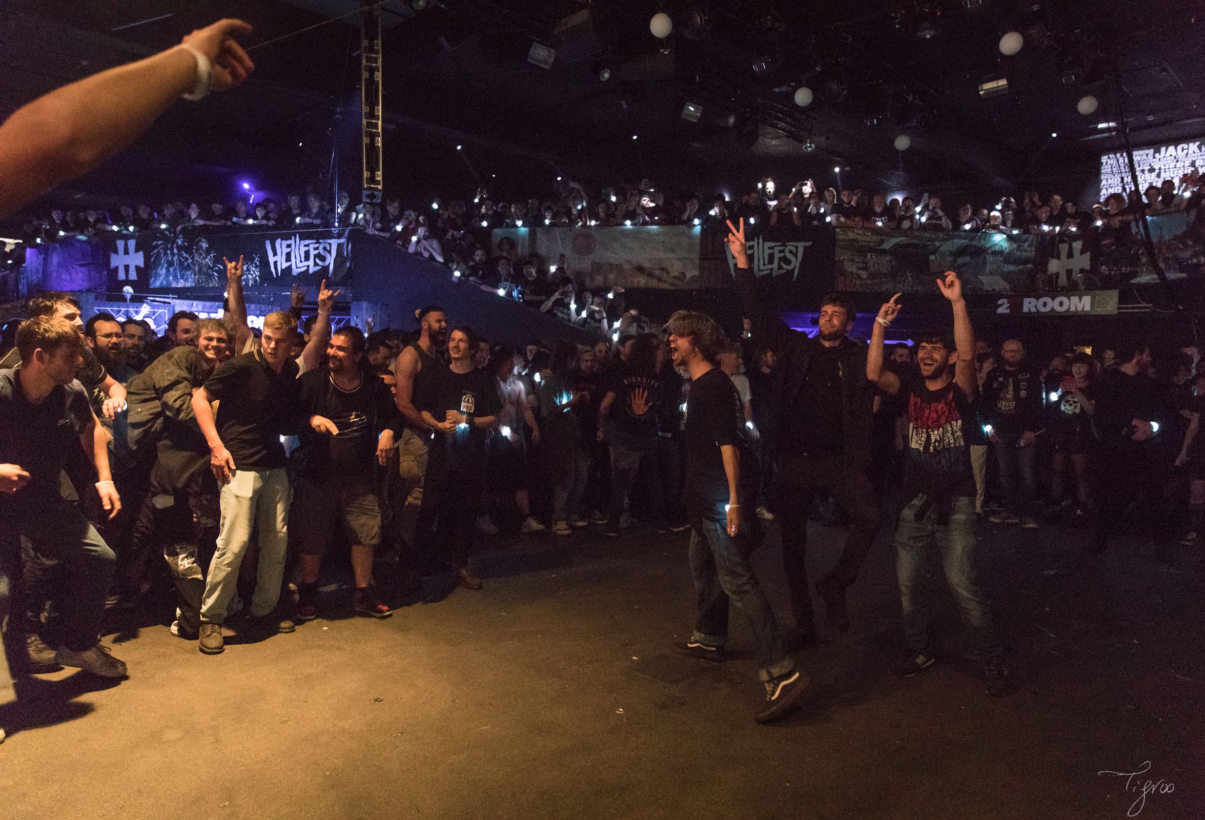
<path fill-rule="evenodd" d="M 434 373 L 415 395 L 423 423 L 435 432 L 423 489 L 423 518 L 436 520 L 455 582 L 474 590 L 481 589 L 481 578 L 469 567 L 469 554 L 488 465 L 486 446 L 501 409 L 493 373 L 472 365 L 480 341 L 472 328 L 455 328 L 448 335 L 447 368 Z"/>

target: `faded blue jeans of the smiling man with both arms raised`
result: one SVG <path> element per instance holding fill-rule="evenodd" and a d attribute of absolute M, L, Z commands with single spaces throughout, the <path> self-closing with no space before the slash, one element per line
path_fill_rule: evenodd
<path fill-rule="evenodd" d="M 895 525 L 895 574 L 904 606 L 904 642 L 912 653 L 930 649 L 929 607 L 922 594 L 924 565 L 936 551 L 984 661 L 1000 660 L 1004 647 L 995 633 L 982 590 L 975 582 L 975 499 L 956 497 L 950 519 L 937 523 L 937 512 L 929 509 L 924 520 L 916 520 L 916 511 L 924 503 L 924 494 L 909 502 Z"/>

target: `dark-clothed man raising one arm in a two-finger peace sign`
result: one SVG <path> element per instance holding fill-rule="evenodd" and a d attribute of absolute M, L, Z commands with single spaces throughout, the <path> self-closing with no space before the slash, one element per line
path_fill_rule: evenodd
<path fill-rule="evenodd" d="M 858 577 L 878 532 L 878 500 L 870 480 L 874 388 L 866 380 L 866 346 L 846 336 L 853 305 L 835 294 L 825 297 L 816 338 L 788 329 L 758 299 L 743 223 L 740 230 L 730 222 L 728 226 L 743 315 L 752 319 L 751 342 L 768 346 L 777 362 L 769 396 L 778 460 L 775 513 L 795 615 L 787 645 L 798 648 L 816 641 L 806 567 L 809 500 L 815 492 L 830 494 L 850 515 L 841 556 L 816 583 L 825 615 L 840 632 L 850 629 L 846 588 Z"/>

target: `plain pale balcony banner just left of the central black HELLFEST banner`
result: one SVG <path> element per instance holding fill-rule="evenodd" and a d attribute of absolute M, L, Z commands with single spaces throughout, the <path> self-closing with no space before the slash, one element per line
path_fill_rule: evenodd
<path fill-rule="evenodd" d="M 699 228 L 536 228 L 531 249 L 565 265 L 583 288 L 707 288 L 699 277 Z"/>

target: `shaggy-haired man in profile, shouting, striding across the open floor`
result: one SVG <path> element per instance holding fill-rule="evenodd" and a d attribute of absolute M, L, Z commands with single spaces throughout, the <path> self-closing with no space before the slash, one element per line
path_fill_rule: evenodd
<path fill-rule="evenodd" d="M 783 649 L 774 609 L 750 566 L 748 554 L 756 544 L 750 544 L 748 526 L 757 526 L 757 518 L 741 507 L 745 413 L 731 379 L 713 364 L 724 348 L 724 331 L 710 317 L 690 311 L 678 311 L 665 328 L 674 365 L 690 376 L 686 507 L 698 617 L 690 638 L 678 648 L 695 657 L 723 660 L 731 598 L 748 618 L 757 643 L 758 677 L 766 690 L 765 707 L 756 720 L 776 720 L 799 704 L 810 679 Z"/>

